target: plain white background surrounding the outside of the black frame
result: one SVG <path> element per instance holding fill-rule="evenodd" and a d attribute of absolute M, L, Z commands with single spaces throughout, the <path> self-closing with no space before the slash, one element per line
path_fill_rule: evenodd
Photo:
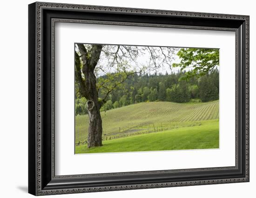
<path fill-rule="evenodd" d="M 256 13 L 253 0 L 47 0 L 48 2 L 250 15 L 250 182 L 175 188 L 55 195 L 56 197 L 253 197 L 256 186 Z M 27 4 L 1 2 L 0 12 L 0 196 L 27 194 Z M 53 196 L 49 196 L 53 197 Z"/>

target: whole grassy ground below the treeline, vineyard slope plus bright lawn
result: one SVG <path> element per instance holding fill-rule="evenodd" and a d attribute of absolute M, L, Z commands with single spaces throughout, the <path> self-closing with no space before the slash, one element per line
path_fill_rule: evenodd
<path fill-rule="evenodd" d="M 139 103 L 101 112 L 101 117 L 103 146 L 91 149 L 85 143 L 88 115 L 75 117 L 75 153 L 218 148 L 218 100 Z"/>

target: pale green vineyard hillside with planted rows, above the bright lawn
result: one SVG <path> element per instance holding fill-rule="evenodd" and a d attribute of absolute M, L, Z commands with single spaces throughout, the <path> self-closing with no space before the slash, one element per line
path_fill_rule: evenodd
<path fill-rule="evenodd" d="M 219 118 L 219 101 L 207 103 L 145 102 L 101 112 L 103 139 L 201 125 Z M 88 115 L 75 117 L 75 142 L 87 139 Z"/>

